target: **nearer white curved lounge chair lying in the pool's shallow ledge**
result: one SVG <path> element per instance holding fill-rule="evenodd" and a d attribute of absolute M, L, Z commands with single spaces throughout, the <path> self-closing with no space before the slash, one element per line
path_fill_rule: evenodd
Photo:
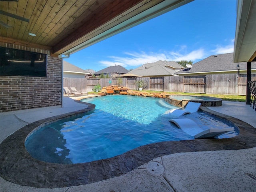
<path fill-rule="evenodd" d="M 179 128 L 181 128 L 187 134 L 193 136 L 195 139 L 200 138 L 212 138 L 218 137 L 224 133 L 234 131 L 234 128 L 224 128 L 224 129 L 207 129 L 202 130 L 196 122 L 191 119 L 170 119 L 170 122 L 175 123 Z"/>

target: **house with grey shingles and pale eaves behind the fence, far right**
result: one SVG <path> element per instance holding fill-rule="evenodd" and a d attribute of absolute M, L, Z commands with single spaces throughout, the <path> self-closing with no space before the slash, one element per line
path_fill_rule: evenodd
<path fill-rule="evenodd" d="M 236 74 L 237 65 L 239 65 L 240 74 L 246 74 L 246 62 L 233 62 L 233 53 L 212 55 L 192 65 L 191 68 L 185 68 L 176 72 L 177 75 L 207 75 L 207 74 Z M 256 63 L 252 62 L 252 74 L 256 73 Z"/>

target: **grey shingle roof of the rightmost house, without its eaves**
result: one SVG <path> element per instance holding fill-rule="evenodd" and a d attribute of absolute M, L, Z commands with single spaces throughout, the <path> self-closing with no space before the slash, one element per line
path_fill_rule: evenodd
<path fill-rule="evenodd" d="M 180 70 L 175 74 L 198 73 L 198 72 L 220 72 L 220 71 L 236 71 L 236 66 L 239 64 L 240 70 L 247 68 L 246 62 L 233 63 L 233 53 L 220 55 L 211 55 L 202 61 L 193 64 L 192 68 Z M 256 68 L 256 63 L 252 63 L 252 69 Z"/>

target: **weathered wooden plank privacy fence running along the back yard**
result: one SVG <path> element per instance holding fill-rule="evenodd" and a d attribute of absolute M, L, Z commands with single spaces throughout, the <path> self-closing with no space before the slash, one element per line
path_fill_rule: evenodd
<path fill-rule="evenodd" d="M 144 80 L 145 90 L 152 91 L 246 95 L 246 74 L 122 78 L 120 86 L 136 90 L 136 80 Z M 256 80 L 256 74 L 252 74 L 253 80 Z M 118 79 L 64 78 L 63 86 L 92 92 L 96 84 L 102 88 L 110 85 L 110 81 L 111 85 L 118 85 Z"/>

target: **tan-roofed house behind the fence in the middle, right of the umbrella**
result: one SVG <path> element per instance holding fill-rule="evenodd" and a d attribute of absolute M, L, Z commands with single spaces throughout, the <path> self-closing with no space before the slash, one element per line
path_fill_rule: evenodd
<path fill-rule="evenodd" d="M 129 73 L 143 77 L 176 76 L 175 72 L 181 69 L 184 67 L 175 61 L 159 60 L 154 63 L 143 64 Z"/>

